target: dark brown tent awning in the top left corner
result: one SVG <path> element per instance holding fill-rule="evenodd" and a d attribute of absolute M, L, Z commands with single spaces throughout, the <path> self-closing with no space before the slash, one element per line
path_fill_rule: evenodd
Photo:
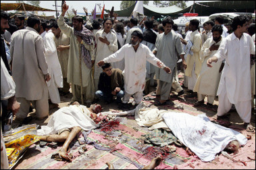
<path fill-rule="evenodd" d="M 36 7 L 26 3 L 1 3 L 1 9 L 3 11 L 11 11 L 11 10 L 24 11 L 24 8 L 26 11 L 55 11 L 53 9 Z"/>

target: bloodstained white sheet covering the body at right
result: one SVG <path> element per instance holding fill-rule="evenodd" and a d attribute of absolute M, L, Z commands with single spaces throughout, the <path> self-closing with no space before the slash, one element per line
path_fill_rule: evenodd
<path fill-rule="evenodd" d="M 224 150 L 232 140 L 238 140 L 240 145 L 247 143 L 245 136 L 212 123 L 205 114 L 193 116 L 169 111 L 163 114 L 163 119 L 174 136 L 204 162 L 215 159 L 215 154 Z"/>

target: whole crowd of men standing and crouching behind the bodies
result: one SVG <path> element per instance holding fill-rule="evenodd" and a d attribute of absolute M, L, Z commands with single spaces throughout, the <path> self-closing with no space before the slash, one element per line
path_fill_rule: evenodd
<path fill-rule="evenodd" d="M 59 96 L 70 93 L 70 86 L 70 104 L 90 105 L 99 98 L 107 104 L 116 100 L 127 108 L 133 96 L 138 105 L 146 79 L 152 86 L 154 76 L 155 95 L 160 96 L 155 105 L 166 105 L 172 88 L 184 94 L 178 83 L 177 62 L 181 62 L 184 87 L 190 91 L 186 96 L 198 98 L 195 107 L 204 105 L 207 96 L 207 107 L 217 111 L 219 123 L 227 125 L 226 113 L 234 105 L 245 129 L 253 131 L 255 23 L 248 16 L 226 25 L 218 16 L 215 22 L 205 22 L 202 32 L 199 20 L 190 20 L 181 35 L 170 17 L 159 24 L 153 18 L 126 22 L 116 16 L 98 21 L 87 16 L 84 21 L 74 16 L 70 25 L 64 18 L 68 5 L 64 3 L 62 9 L 58 20 L 30 16 L 26 24 L 19 15 L 10 24 L 8 14 L 1 11 L 1 70 L 5 67 L 15 82 L 9 86 L 15 95 L 7 100 L 1 71 L 1 120 L 8 110 L 17 113 L 17 120 L 27 120 L 31 105 L 36 117 L 45 119 L 49 103 L 58 107 Z"/>

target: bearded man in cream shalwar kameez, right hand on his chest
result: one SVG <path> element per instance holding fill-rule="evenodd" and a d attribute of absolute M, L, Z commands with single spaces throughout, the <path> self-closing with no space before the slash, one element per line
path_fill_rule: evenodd
<path fill-rule="evenodd" d="M 194 104 L 196 107 L 204 104 L 206 95 L 207 106 L 213 107 L 214 98 L 217 94 L 217 88 L 220 83 L 220 66 L 222 65 L 222 61 L 213 63 L 213 67 L 210 69 L 207 67 L 207 60 L 217 53 L 217 49 L 220 47 L 220 43 L 222 42 L 222 31 L 222 26 L 213 26 L 213 38 L 208 38 L 201 49 L 204 61 L 193 89 L 194 92 L 197 92 L 198 101 Z"/>

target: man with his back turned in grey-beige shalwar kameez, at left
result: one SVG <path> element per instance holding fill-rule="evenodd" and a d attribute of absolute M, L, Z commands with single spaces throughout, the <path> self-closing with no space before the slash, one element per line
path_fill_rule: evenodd
<path fill-rule="evenodd" d="M 36 117 L 44 119 L 49 114 L 48 89 L 45 82 L 51 76 L 47 69 L 43 38 L 39 35 L 41 22 L 30 16 L 27 27 L 11 36 L 11 59 L 16 98 L 21 103 L 16 119 L 22 121 L 29 113 L 30 103 L 36 109 Z"/>

